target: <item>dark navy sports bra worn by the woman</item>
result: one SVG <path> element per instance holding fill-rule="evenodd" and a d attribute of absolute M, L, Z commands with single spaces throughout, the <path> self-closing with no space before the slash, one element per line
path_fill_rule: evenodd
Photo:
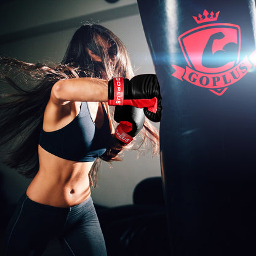
<path fill-rule="evenodd" d="M 60 158 L 91 162 L 105 153 L 110 146 L 110 122 L 105 108 L 103 126 L 95 126 L 87 102 L 82 102 L 76 118 L 61 129 L 53 132 L 41 130 L 39 145 Z"/>

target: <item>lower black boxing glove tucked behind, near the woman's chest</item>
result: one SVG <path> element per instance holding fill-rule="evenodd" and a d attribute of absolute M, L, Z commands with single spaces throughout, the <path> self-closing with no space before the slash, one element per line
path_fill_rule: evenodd
<path fill-rule="evenodd" d="M 114 110 L 114 120 L 119 122 L 115 130 L 116 138 L 120 143 L 128 144 L 143 127 L 145 115 L 142 108 L 135 106 L 116 106 Z"/>

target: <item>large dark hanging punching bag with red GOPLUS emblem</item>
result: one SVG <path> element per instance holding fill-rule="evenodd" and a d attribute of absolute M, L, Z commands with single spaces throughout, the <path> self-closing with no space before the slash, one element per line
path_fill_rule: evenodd
<path fill-rule="evenodd" d="M 161 86 L 172 255 L 256 255 L 255 2 L 138 7 Z"/>

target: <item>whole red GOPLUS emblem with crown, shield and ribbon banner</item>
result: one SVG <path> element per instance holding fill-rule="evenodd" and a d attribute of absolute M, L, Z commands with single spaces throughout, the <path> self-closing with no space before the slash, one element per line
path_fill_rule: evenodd
<path fill-rule="evenodd" d="M 194 17 L 198 24 L 215 22 L 220 12 Z M 186 31 L 178 37 L 188 66 L 172 65 L 175 78 L 223 95 L 228 86 L 239 81 L 256 65 L 256 50 L 239 62 L 241 33 L 238 25 L 209 23 Z"/>

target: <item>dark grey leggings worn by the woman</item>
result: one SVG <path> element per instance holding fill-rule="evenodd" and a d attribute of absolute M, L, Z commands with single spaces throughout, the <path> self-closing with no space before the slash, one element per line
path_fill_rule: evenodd
<path fill-rule="evenodd" d="M 50 239 L 60 239 L 66 255 L 106 256 L 106 247 L 92 198 L 77 206 L 61 208 L 18 201 L 7 226 L 4 255 L 41 255 Z"/>

